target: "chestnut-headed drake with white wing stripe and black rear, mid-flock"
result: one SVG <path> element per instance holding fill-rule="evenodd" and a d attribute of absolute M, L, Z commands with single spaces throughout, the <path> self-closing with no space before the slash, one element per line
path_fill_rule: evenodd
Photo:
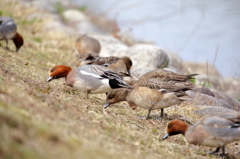
<path fill-rule="evenodd" d="M 122 79 L 122 74 L 100 65 L 83 65 L 72 69 L 69 66 L 56 65 L 49 71 L 47 81 L 65 77 L 67 85 L 88 94 L 107 93 L 115 88 L 132 88 Z"/>

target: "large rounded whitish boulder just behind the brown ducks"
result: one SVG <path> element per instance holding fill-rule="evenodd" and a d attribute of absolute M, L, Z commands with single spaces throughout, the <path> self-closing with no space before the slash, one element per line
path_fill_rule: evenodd
<path fill-rule="evenodd" d="M 128 55 L 133 61 L 132 70 L 145 68 L 155 70 L 168 66 L 169 56 L 161 48 L 152 44 L 135 44 L 128 50 Z"/>

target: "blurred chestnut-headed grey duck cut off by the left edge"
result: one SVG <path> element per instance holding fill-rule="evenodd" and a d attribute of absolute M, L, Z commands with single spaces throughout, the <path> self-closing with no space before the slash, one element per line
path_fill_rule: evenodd
<path fill-rule="evenodd" d="M 0 17 L 0 40 L 6 41 L 6 50 L 9 50 L 8 40 L 13 40 L 16 52 L 24 44 L 23 37 L 17 32 L 17 25 L 10 17 Z"/>

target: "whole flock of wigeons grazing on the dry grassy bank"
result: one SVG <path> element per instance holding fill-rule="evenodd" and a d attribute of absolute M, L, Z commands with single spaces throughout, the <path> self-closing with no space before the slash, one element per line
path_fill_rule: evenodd
<path fill-rule="evenodd" d="M 23 45 L 23 38 L 9 17 L 0 17 L 0 39 L 6 41 L 6 49 L 8 40 L 13 40 L 16 51 Z M 131 75 L 133 63 L 129 57 L 100 57 L 100 47 L 94 38 L 86 35 L 78 38 L 75 45 L 78 52 L 77 68 L 56 65 L 50 69 L 47 81 L 65 78 L 68 86 L 86 92 L 87 98 L 89 94 L 106 93 L 104 109 L 114 103 L 127 101 L 131 107 L 147 109 L 145 119 L 149 119 L 151 110 L 155 109 L 161 109 L 159 118 L 164 118 L 164 108 L 192 98 L 186 94 L 187 90 L 214 96 L 208 88 L 189 81 L 197 74 L 182 75 L 157 69 L 136 79 Z M 167 124 L 166 131 L 163 140 L 183 134 L 190 144 L 216 147 L 210 153 L 216 154 L 221 149 L 220 155 L 225 156 L 225 145 L 240 140 L 240 114 L 207 115 L 194 125 L 175 119 Z"/>

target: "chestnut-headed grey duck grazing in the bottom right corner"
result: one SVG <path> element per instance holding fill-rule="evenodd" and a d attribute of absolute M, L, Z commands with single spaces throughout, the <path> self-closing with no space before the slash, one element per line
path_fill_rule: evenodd
<path fill-rule="evenodd" d="M 240 140 L 240 114 L 224 113 L 207 115 L 199 119 L 194 125 L 174 119 L 167 124 L 166 135 L 162 140 L 169 136 L 182 134 L 186 141 L 194 145 L 216 147 L 209 152 L 216 154 L 222 150 L 220 156 L 225 156 L 225 145 Z"/>

